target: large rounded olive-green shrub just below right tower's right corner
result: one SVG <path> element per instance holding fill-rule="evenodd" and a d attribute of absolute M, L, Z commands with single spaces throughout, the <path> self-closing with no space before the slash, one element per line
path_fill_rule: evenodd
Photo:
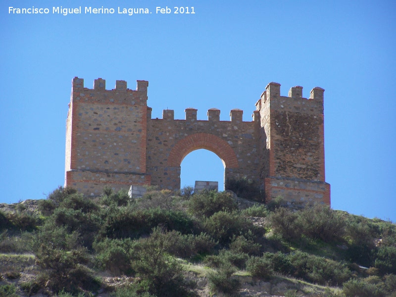
<path fill-rule="evenodd" d="M 305 207 L 299 212 L 298 224 L 303 234 L 326 243 L 342 241 L 345 234 L 346 223 L 342 216 L 328 205 Z"/>

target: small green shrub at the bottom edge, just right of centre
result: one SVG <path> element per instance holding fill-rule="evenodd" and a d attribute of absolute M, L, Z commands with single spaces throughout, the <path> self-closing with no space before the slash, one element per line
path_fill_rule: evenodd
<path fill-rule="evenodd" d="M 241 288 L 240 281 L 233 277 L 236 269 L 231 264 L 221 265 L 215 272 L 209 272 L 207 279 L 213 293 L 223 293 L 228 296 L 236 296 Z"/>

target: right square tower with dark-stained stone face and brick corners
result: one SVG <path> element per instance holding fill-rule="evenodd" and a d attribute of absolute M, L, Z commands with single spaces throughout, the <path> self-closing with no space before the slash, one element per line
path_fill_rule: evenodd
<path fill-rule="evenodd" d="M 330 185 L 325 182 L 324 90 L 316 87 L 306 99 L 297 86 L 283 97 L 280 86 L 269 83 L 257 106 L 266 139 L 261 175 L 266 201 L 281 196 L 297 204 L 330 205 Z"/>

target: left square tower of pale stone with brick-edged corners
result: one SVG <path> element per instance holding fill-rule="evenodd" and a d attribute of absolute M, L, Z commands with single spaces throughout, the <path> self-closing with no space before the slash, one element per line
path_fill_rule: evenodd
<path fill-rule="evenodd" d="M 114 190 L 150 184 L 146 174 L 147 81 L 137 90 L 116 81 L 106 90 L 105 80 L 84 88 L 75 77 L 66 121 L 65 186 L 87 196 L 98 196 L 105 186 Z"/>

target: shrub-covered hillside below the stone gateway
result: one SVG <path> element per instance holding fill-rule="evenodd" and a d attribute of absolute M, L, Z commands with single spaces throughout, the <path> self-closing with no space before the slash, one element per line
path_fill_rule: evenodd
<path fill-rule="evenodd" d="M 396 297 L 396 225 L 188 187 L 59 188 L 0 204 L 0 276 L 0 297 Z"/>

